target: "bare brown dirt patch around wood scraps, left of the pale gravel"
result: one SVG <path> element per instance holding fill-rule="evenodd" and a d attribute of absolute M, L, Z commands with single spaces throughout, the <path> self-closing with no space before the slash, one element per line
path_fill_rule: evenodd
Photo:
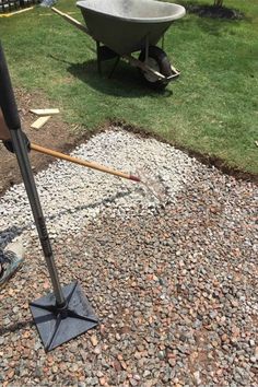
<path fill-rule="evenodd" d="M 31 124 L 37 119 L 37 116 L 28 110 L 31 108 L 47 108 L 52 106 L 52 104 L 49 104 L 39 93 L 31 95 L 21 90 L 16 90 L 15 96 L 22 128 L 31 142 L 60 152 L 68 151 L 78 142 L 78 137 L 71 133 L 67 124 L 62 122 L 60 115 L 52 116 L 39 130 L 31 128 Z M 54 161 L 52 157 L 34 151 L 30 153 L 30 159 L 34 172 L 47 167 L 47 165 Z M 12 185 L 21 181 L 22 177 L 15 155 L 8 152 L 0 142 L 0 195 Z"/>

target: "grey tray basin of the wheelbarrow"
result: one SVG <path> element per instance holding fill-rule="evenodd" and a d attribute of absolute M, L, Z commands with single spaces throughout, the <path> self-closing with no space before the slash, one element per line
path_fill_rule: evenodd
<path fill-rule="evenodd" d="M 90 35 L 120 56 L 155 46 L 185 8 L 155 0 L 78 1 Z"/>

